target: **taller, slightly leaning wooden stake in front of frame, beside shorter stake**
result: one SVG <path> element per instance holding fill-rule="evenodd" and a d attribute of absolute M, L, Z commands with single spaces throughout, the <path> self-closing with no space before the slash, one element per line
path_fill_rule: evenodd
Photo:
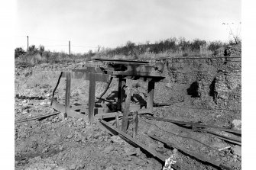
<path fill-rule="evenodd" d="M 122 131 L 125 133 L 126 133 L 127 126 L 128 126 L 128 116 L 130 113 L 130 102 L 131 102 L 131 88 L 128 88 L 125 103 L 122 104 L 122 110 L 123 110 Z"/>

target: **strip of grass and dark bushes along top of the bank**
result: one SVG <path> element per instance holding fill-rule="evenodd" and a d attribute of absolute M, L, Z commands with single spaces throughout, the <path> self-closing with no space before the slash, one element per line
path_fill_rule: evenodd
<path fill-rule="evenodd" d="M 232 43 L 232 42 L 231 42 Z M 241 41 L 240 41 L 241 43 Z M 26 53 L 21 47 L 15 49 L 15 63 L 31 65 L 40 63 L 60 63 L 71 62 L 75 59 L 91 60 L 93 58 L 112 58 L 112 59 L 141 59 L 141 58 L 160 58 L 175 56 L 217 56 L 228 44 L 221 41 L 206 42 L 206 40 L 186 40 L 184 37 L 176 37 L 160 40 L 156 43 L 132 43 L 128 41 L 122 47 L 113 49 L 99 47 L 95 52 L 89 50 L 88 53 L 53 53 L 45 50 L 43 45 L 36 47 L 31 45 Z M 222 55 L 222 54 L 220 54 Z"/>

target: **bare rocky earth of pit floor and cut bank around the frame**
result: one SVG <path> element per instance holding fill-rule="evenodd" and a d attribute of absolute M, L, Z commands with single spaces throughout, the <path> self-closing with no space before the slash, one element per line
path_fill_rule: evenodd
<path fill-rule="evenodd" d="M 233 47 L 233 56 L 241 56 L 241 47 Z M 82 68 L 84 64 L 80 61 L 61 65 L 16 67 L 15 120 L 56 113 L 50 107 L 50 98 L 60 72 Z M 157 83 L 154 102 L 171 105 L 154 107 L 155 117 L 202 122 L 225 128 L 231 128 L 232 120 L 241 120 L 241 63 L 172 64 L 167 66 L 166 71 L 167 81 Z M 128 86 L 134 89 L 133 97 L 138 101 L 143 102 L 146 99 L 145 82 L 128 81 Z M 105 87 L 105 83 L 97 83 L 96 96 L 99 96 Z M 58 99 L 64 99 L 64 89 L 65 80 L 62 80 L 56 93 Z M 88 90 L 88 82 L 74 80 L 71 104 L 85 103 Z M 117 80 L 114 79 L 103 98 L 111 98 L 113 91 L 116 90 Z M 176 149 L 167 149 L 163 143 L 148 137 L 147 133 L 160 136 L 184 149 L 222 162 L 234 169 L 241 169 L 241 155 L 235 150 L 237 146 L 209 133 L 141 117 L 137 140 L 167 158 L 174 154 L 183 168 L 215 169 L 177 152 Z M 131 135 L 131 131 L 128 131 L 128 134 Z M 232 146 L 232 149 L 221 152 L 217 150 L 225 146 Z M 118 136 L 111 136 L 96 124 L 89 125 L 80 119 L 66 117 L 61 120 L 60 116 L 56 115 L 41 121 L 15 123 L 15 169 L 162 168 L 163 165 L 157 159 L 145 152 L 138 151 L 133 156 L 125 155 L 135 150 L 136 148 Z"/>

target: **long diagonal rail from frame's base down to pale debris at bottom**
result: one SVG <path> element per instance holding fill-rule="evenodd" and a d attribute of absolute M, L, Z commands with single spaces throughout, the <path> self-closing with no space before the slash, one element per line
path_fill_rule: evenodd
<path fill-rule="evenodd" d="M 152 156 L 160 160 L 160 162 L 165 162 L 166 156 L 161 155 L 160 153 L 156 152 L 155 150 L 145 146 L 143 143 L 140 143 L 138 140 L 135 140 L 131 136 L 128 136 L 128 134 L 122 132 L 121 130 L 117 130 L 115 127 L 112 127 L 109 123 L 105 122 L 104 120 L 99 120 L 99 123 L 102 123 L 103 127 L 105 127 L 105 130 L 112 134 L 112 135 L 118 135 L 126 142 L 130 143 L 133 146 L 138 146 L 142 150 L 150 153 Z M 181 169 L 181 166 L 179 162 L 173 165 L 173 168 L 175 169 Z"/>

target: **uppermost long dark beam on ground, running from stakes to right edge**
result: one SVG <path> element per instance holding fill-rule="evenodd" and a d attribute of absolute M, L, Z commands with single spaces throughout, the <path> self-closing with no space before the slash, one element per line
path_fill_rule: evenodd
<path fill-rule="evenodd" d="M 148 116 L 144 116 L 143 117 L 147 118 L 147 119 L 154 119 L 154 120 L 161 120 L 161 121 L 166 121 L 166 122 L 170 122 L 170 123 L 177 123 L 177 124 L 181 124 L 181 125 L 190 125 L 193 127 L 204 127 L 204 128 L 213 128 L 216 130 L 222 130 L 225 132 L 230 132 L 230 133 L 235 133 L 235 134 L 239 134 L 241 135 L 241 130 L 230 130 L 230 129 L 225 129 L 222 127 L 214 127 L 211 125 L 206 125 L 206 124 L 199 124 L 199 123 L 190 123 L 190 122 L 184 122 L 184 121 L 178 121 L 178 120 L 170 120 L 170 119 L 164 119 L 161 117 L 148 117 Z"/>

